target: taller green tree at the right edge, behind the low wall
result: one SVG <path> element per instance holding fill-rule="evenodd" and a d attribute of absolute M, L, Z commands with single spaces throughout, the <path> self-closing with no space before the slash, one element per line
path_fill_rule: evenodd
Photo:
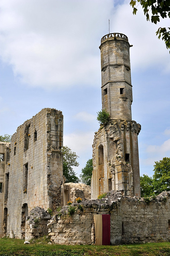
<path fill-rule="evenodd" d="M 164 157 L 155 162 L 153 186 L 156 195 L 165 190 L 170 191 L 170 158 Z"/>

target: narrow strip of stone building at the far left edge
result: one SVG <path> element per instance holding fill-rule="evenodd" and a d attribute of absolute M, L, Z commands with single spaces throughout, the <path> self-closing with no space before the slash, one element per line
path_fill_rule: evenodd
<path fill-rule="evenodd" d="M 3 214 L 4 214 L 4 173 L 5 173 L 5 158 L 6 147 L 8 142 L 0 142 L 0 237 L 4 235 L 3 232 Z"/>

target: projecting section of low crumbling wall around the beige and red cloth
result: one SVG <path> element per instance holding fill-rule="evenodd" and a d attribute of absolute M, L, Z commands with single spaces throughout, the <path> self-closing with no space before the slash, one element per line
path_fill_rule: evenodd
<path fill-rule="evenodd" d="M 119 204 L 119 202 L 117 202 Z M 93 214 L 111 214 L 111 244 L 121 242 L 121 214 L 117 204 L 109 205 L 107 200 L 87 200 L 73 204 L 75 214 L 69 216 L 69 206 L 54 216 L 47 225 L 51 241 L 56 244 L 95 243 Z M 78 206 L 81 205 L 82 209 Z"/>

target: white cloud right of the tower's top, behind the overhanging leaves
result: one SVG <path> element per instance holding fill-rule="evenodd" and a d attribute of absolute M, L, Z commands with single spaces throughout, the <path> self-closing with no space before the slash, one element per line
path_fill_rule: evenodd
<path fill-rule="evenodd" d="M 128 41 L 133 45 L 130 48 L 132 70 L 140 70 L 148 67 L 161 67 L 162 72 L 170 71 L 170 59 L 168 50 L 162 40 L 158 40 L 156 31 L 160 26 L 169 26 L 169 19 L 162 19 L 158 24 L 146 21 L 142 7 L 138 6 L 136 15 L 132 14 L 129 0 L 119 5 L 115 10 L 112 20 L 112 30 L 128 36 Z"/>

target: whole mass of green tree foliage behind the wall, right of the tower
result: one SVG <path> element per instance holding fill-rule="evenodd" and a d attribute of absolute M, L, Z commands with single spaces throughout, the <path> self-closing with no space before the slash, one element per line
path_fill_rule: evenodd
<path fill-rule="evenodd" d="M 153 178 L 143 175 L 140 177 L 141 196 L 158 195 L 170 191 L 170 158 L 164 157 L 155 162 Z"/>

